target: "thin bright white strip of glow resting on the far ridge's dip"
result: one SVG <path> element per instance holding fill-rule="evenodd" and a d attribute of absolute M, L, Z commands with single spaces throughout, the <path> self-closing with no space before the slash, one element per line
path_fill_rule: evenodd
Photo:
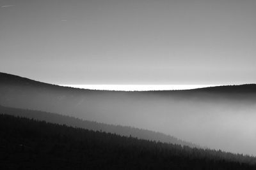
<path fill-rule="evenodd" d="M 90 90 L 116 90 L 116 91 L 148 91 L 148 90 L 188 90 L 219 85 L 61 85 Z"/>

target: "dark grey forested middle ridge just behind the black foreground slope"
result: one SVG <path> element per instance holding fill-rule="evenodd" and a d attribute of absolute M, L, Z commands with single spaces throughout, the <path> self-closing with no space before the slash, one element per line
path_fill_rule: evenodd
<path fill-rule="evenodd" d="M 151 141 L 161 141 L 165 143 L 173 143 L 178 145 L 186 145 L 190 147 L 200 146 L 181 141 L 173 136 L 165 135 L 160 132 L 148 131 L 145 129 L 138 129 L 134 127 L 124 127 L 121 125 L 108 125 L 97 122 L 92 122 L 88 120 L 81 120 L 79 118 L 68 117 L 64 115 L 59 115 L 56 113 L 47 113 L 44 111 L 35 111 L 35 110 L 21 110 L 17 108 L 7 108 L 0 106 L 0 113 L 13 115 L 15 117 L 26 117 L 33 118 L 35 120 L 46 121 L 54 124 L 68 125 L 72 127 L 79 127 L 83 129 L 89 129 L 92 131 L 102 131 L 102 132 L 111 132 L 113 134 L 118 134 L 121 136 L 132 136 L 139 139 L 147 139 Z"/>

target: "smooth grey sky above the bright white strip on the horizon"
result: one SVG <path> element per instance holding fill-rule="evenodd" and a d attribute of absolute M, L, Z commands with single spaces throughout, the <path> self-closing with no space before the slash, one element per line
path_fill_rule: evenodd
<path fill-rule="evenodd" d="M 0 0 L 0 72 L 61 85 L 256 82 L 255 0 Z"/>

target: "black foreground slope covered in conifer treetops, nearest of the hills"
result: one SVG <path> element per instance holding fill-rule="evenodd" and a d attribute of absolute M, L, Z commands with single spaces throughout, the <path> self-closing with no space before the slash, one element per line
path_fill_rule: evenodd
<path fill-rule="evenodd" d="M 0 169 L 256 169 L 255 157 L 0 114 Z"/>

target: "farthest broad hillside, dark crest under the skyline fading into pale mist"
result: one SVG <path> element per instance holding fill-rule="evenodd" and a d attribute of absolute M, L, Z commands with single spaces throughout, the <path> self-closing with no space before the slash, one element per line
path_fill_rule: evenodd
<path fill-rule="evenodd" d="M 40 115 L 39 112 L 28 110 L 99 122 L 106 129 L 108 125 L 103 124 L 122 125 L 124 130 L 130 127 L 147 129 L 150 136 L 147 139 L 156 141 L 164 141 L 168 136 L 171 142 L 170 136 L 175 136 L 175 142 L 187 141 L 186 145 L 191 144 L 189 146 L 256 155 L 254 84 L 193 90 L 120 92 L 60 87 L 1 73 L 0 104 L 1 110 L 6 113 L 16 114 L 10 110 L 19 108 L 22 110 L 17 113 L 25 113 L 27 117 L 39 120 L 44 119 L 31 116 L 33 113 Z M 68 125 L 79 127 L 79 121 Z M 130 129 L 125 136 L 138 129 Z M 118 134 L 116 130 L 112 132 Z M 142 133 L 147 134 L 144 130 Z M 134 134 L 134 137 L 140 138 L 140 135 Z"/>

